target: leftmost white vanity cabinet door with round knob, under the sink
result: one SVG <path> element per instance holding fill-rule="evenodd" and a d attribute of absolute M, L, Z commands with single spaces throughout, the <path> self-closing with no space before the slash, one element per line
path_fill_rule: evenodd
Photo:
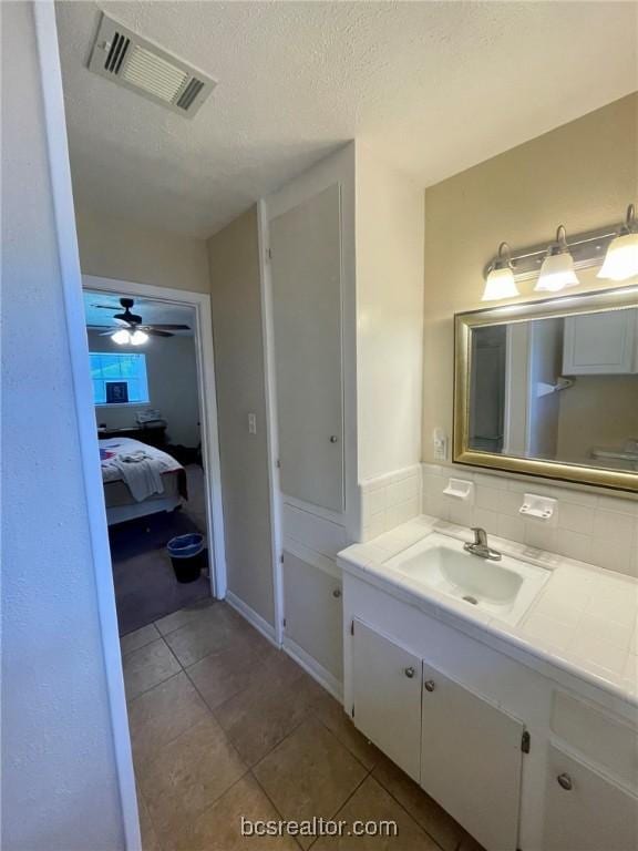
<path fill-rule="evenodd" d="M 419 781 L 421 660 L 354 621 L 352 687 L 356 727 Z"/>

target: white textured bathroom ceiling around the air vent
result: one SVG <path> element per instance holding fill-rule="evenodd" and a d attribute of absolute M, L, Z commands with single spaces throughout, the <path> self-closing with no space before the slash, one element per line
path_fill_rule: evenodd
<path fill-rule="evenodd" d="M 638 85 L 632 2 L 102 2 L 219 81 L 193 121 L 86 70 L 59 2 L 81 203 L 208 236 L 354 136 L 424 186 Z"/>

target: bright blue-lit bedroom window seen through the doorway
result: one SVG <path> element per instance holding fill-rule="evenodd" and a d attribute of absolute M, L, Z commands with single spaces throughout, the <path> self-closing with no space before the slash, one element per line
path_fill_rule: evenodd
<path fill-rule="evenodd" d="M 145 404 L 148 399 L 146 355 L 92 351 L 95 404 Z"/>

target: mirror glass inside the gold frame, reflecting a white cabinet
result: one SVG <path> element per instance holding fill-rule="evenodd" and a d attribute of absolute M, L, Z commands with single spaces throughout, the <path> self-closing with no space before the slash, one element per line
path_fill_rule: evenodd
<path fill-rule="evenodd" d="M 472 328 L 469 448 L 638 472 L 638 308 Z"/>

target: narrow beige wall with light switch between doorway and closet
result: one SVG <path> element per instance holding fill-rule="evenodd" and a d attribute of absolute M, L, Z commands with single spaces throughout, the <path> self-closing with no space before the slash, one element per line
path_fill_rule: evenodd
<path fill-rule="evenodd" d="M 228 588 L 274 624 L 257 208 L 215 234 L 208 256 Z"/>

